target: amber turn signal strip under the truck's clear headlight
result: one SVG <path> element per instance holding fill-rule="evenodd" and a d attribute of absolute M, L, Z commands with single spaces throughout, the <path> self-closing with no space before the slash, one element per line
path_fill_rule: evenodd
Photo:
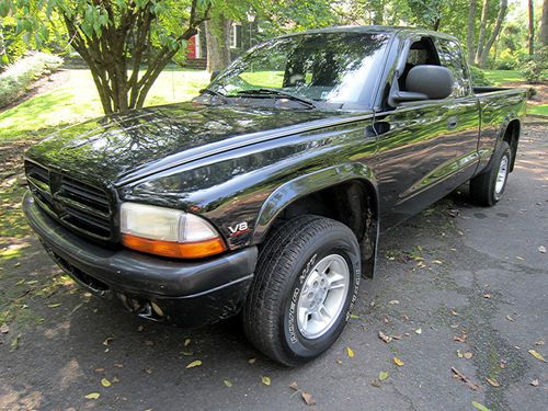
<path fill-rule="evenodd" d="M 202 259 L 219 254 L 227 249 L 225 242 L 219 237 L 204 241 L 182 243 L 122 235 L 122 243 L 133 250 L 174 259 Z"/>

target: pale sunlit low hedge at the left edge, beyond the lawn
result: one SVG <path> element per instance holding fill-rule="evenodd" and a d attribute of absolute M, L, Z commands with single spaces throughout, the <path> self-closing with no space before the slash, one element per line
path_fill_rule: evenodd
<path fill-rule="evenodd" d="M 57 70 L 62 59 L 46 53 L 35 53 L 21 58 L 0 75 L 0 107 L 3 107 L 25 92 L 33 82 Z"/>

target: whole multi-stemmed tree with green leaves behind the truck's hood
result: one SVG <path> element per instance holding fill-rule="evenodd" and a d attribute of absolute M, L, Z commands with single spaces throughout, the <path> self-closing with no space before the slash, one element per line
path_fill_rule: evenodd
<path fill-rule="evenodd" d="M 18 31 L 32 34 L 38 44 L 52 35 L 46 22 L 60 19 L 110 114 L 142 106 L 160 72 L 207 20 L 212 2 L 2 0 L 0 15 L 18 15 Z"/>

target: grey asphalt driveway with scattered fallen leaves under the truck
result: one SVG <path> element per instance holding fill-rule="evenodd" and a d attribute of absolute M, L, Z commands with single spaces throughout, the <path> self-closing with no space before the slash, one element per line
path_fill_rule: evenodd
<path fill-rule="evenodd" d="M 0 409 L 306 409 L 289 388 L 296 381 L 319 410 L 473 410 L 472 401 L 545 410 L 547 364 L 528 350 L 548 361 L 548 253 L 538 250 L 548 248 L 547 132 L 527 127 L 495 207 L 470 205 L 461 190 L 385 235 L 355 318 L 311 364 L 277 366 L 246 342 L 238 321 L 187 332 L 64 284 L 28 302 L 41 324 L 0 334 Z M 35 240 L 4 270 L 27 282 L 59 275 Z M 195 359 L 202 365 L 185 368 Z M 380 372 L 388 378 L 378 381 Z M 100 397 L 87 399 L 91 392 Z"/>

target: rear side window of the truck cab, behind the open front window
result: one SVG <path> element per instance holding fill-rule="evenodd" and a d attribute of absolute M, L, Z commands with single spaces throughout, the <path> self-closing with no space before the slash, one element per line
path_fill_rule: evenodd
<path fill-rule="evenodd" d="M 464 98 L 470 94 L 470 80 L 466 60 L 457 42 L 452 39 L 435 39 L 439 62 L 453 71 L 455 84 L 453 85 L 453 98 Z"/>

